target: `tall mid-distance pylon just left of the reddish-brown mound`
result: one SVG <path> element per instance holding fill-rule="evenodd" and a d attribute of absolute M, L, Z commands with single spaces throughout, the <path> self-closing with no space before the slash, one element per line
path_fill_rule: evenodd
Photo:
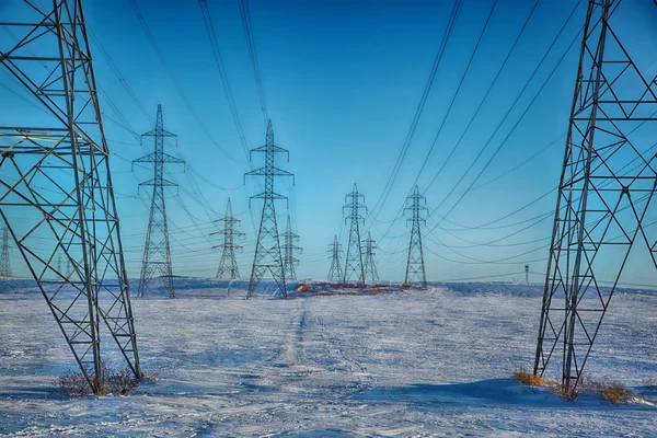
<path fill-rule="evenodd" d="M 246 298 L 251 298 L 255 295 L 255 291 L 263 279 L 263 275 L 265 275 L 267 270 L 272 273 L 281 298 L 287 298 L 285 269 L 283 266 L 278 224 L 276 223 L 276 208 L 274 205 L 275 200 L 287 199 L 287 197 L 279 195 L 274 191 L 274 177 L 293 176 L 293 174 L 284 171 L 274 164 L 274 158 L 276 153 L 288 153 L 289 157 L 289 152 L 287 149 L 279 148 L 274 143 L 274 129 L 272 128 L 272 120 L 269 120 L 267 124 L 265 146 L 252 149 L 251 153 L 253 152 L 263 152 L 265 154 L 265 165 L 264 168 L 245 173 L 244 177 L 264 176 L 265 191 L 251 197 L 251 199 L 264 199 L 264 203 Z"/>

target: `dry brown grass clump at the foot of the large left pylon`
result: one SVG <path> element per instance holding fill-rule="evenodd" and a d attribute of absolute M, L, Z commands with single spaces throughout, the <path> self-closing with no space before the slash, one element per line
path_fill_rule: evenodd
<path fill-rule="evenodd" d="M 91 369 L 88 374 L 93 374 Z M 67 399 L 76 399 L 90 395 L 126 395 L 139 384 L 129 367 L 113 369 L 111 364 L 104 364 L 101 376 L 96 377 L 91 384 L 82 371 L 68 370 L 59 378 L 59 391 Z"/>

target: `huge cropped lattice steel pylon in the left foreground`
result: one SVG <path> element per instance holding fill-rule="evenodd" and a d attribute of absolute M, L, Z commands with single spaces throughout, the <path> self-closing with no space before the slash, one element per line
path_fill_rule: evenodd
<path fill-rule="evenodd" d="M 2 113 L 0 216 L 99 393 L 101 321 L 141 370 L 87 22 L 80 0 L 14 3 L 15 20 L 4 12 L 0 23 L 13 38 L 0 38 L 0 69 L 31 105 Z M 53 281 L 59 252 L 73 269 Z"/>

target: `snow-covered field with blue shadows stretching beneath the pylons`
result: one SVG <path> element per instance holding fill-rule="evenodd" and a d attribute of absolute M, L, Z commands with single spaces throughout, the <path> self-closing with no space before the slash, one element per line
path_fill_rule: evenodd
<path fill-rule="evenodd" d="M 531 367 L 540 287 L 443 285 L 366 297 L 244 300 L 177 280 L 134 300 L 157 382 L 62 400 L 72 357 L 43 298 L 0 285 L 0 433 L 16 436 L 657 436 L 657 295 L 620 292 L 587 373 L 642 400 L 567 403 L 510 380 Z"/>

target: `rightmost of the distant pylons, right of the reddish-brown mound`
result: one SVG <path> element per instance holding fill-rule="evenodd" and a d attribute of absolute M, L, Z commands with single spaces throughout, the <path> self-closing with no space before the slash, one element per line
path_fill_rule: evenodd
<path fill-rule="evenodd" d="M 419 194 L 417 186 L 415 186 L 413 195 L 406 198 L 404 212 L 411 214 L 411 217 L 406 219 L 406 223 L 411 222 L 411 240 L 408 241 L 404 286 L 427 287 L 424 249 L 422 245 L 422 224 L 425 222 L 424 214 L 427 211 L 426 201 L 427 199 Z"/>

